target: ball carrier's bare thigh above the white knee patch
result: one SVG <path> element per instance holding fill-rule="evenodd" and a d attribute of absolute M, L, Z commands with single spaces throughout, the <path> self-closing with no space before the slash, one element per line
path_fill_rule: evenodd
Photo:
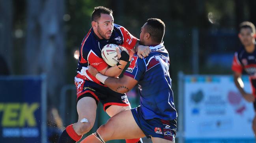
<path fill-rule="evenodd" d="M 92 97 L 83 97 L 77 102 L 77 113 L 78 113 L 78 122 L 81 119 L 86 118 L 92 124 L 95 122 L 96 118 L 96 109 L 97 104 L 95 99 Z"/>

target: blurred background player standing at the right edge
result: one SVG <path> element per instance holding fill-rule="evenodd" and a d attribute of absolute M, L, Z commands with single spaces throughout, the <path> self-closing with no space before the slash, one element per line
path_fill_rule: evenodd
<path fill-rule="evenodd" d="M 242 22 L 239 26 L 239 39 L 243 44 L 243 47 L 239 51 L 235 52 L 232 70 L 234 71 L 234 82 L 242 94 L 243 98 L 248 102 L 252 102 L 254 110 L 256 110 L 256 50 L 255 50 L 255 26 L 251 22 Z M 252 87 L 252 94 L 244 91 L 243 81 L 241 75 L 243 70 L 249 74 L 250 83 Z M 252 121 L 252 129 L 256 134 L 256 116 Z"/>

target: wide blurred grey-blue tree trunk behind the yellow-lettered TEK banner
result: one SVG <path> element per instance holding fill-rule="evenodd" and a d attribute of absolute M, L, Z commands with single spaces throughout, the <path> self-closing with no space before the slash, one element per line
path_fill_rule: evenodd
<path fill-rule="evenodd" d="M 49 100 L 64 84 L 64 0 L 27 0 L 26 74 L 46 74 Z"/>

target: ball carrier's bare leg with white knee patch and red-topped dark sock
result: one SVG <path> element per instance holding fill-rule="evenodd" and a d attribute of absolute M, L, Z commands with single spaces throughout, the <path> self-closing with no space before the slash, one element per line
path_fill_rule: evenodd
<path fill-rule="evenodd" d="M 89 132 L 95 122 L 97 104 L 91 97 L 83 97 L 77 102 L 78 121 L 69 125 L 60 136 L 58 143 L 76 143 L 83 134 Z"/>

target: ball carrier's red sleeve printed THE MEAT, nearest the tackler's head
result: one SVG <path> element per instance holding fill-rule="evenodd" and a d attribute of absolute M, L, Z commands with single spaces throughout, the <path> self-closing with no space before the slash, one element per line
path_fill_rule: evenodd
<path fill-rule="evenodd" d="M 121 31 L 123 36 L 123 44 L 121 46 L 127 49 L 133 49 L 138 39 L 129 33 L 129 31 L 127 31 L 124 27 L 119 26 L 118 29 Z"/>

